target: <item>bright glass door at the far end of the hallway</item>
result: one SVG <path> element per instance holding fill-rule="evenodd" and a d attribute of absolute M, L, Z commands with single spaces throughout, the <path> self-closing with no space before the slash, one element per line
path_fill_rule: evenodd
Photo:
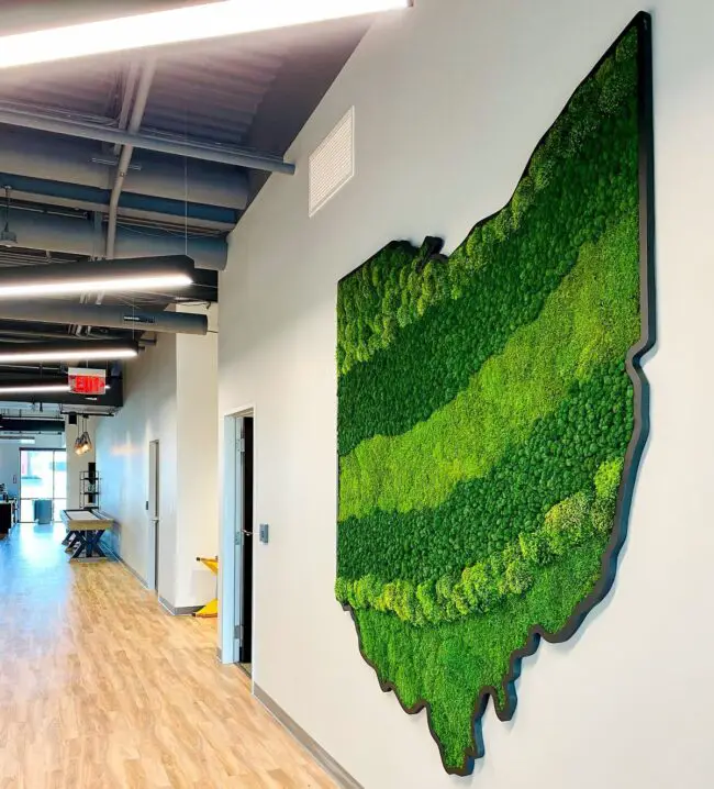
<path fill-rule="evenodd" d="M 67 508 L 65 449 L 20 449 L 20 521 L 33 523 L 35 501 L 52 501 L 53 521 Z"/>

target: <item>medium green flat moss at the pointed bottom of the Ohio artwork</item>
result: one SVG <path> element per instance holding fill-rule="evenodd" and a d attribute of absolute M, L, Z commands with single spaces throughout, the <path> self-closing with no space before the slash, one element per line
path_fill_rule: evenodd
<path fill-rule="evenodd" d="M 482 689 L 498 688 L 503 708 L 511 655 L 525 645 L 531 627 L 540 624 L 557 633 L 592 591 L 604 545 L 603 537 L 591 540 L 545 568 L 526 594 L 482 616 L 415 627 L 394 615 L 356 612 L 362 652 L 378 667 L 380 680 L 393 684 L 408 708 L 429 702 L 446 766 L 459 768 L 473 747 L 472 721 Z M 527 681 L 526 671 L 522 684 Z"/>

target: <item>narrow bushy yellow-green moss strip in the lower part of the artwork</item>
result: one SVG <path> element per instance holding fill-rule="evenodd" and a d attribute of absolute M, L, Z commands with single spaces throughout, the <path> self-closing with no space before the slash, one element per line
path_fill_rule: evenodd
<path fill-rule="evenodd" d="M 539 568 L 561 560 L 573 548 L 612 529 L 623 460 L 604 463 L 593 491 L 581 491 L 553 507 L 542 525 L 502 552 L 467 567 L 460 575 L 444 575 L 436 582 L 397 579 L 388 584 L 375 576 L 338 578 L 335 593 L 356 610 L 373 609 L 397 614 L 403 622 L 423 626 L 486 614 L 510 597 L 533 587 Z"/>

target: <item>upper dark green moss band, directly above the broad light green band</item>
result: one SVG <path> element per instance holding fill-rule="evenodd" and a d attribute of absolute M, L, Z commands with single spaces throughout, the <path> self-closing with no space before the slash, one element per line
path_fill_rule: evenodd
<path fill-rule="evenodd" d="M 620 86 L 620 92 L 612 88 L 613 95 L 620 97 L 623 85 L 634 85 L 634 59 L 613 57 L 609 68 L 613 84 Z M 576 263 L 581 245 L 600 237 L 613 212 L 624 214 L 637 205 L 634 92 L 616 114 L 603 114 L 596 102 L 594 109 L 589 103 L 598 91 L 588 86 L 578 91 L 569 108 L 570 113 L 582 112 L 587 118 L 578 125 L 582 136 L 578 155 L 554 155 L 553 160 L 537 157 L 537 171 L 547 179 L 547 187 L 517 230 L 510 232 L 507 243 L 500 243 L 495 231 L 486 233 L 491 258 L 462 284 L 460 298 L 427 309 L 368 363 L 357 364 L 339 377 L 341 455 L 372 435 L 402 433 L 450 401 L 486 359 L 503 348 L 517 326 L 537 316 L 545 299 Z M 555 130 L 551 134 L 558 137 Z M 556 151 L 558 145 L 573 144 L 571 137 L 558 137 L 548 145 Z M 358 271 L 354 276 L 364 280 L 367 275 Z M 349 287 L 349 280 L 343 287 Z M 371 291 L 362 288 L 360 293 L 369 310 Z M 469 315 L 468 322 L 465 315 Z M 345 320 L 345 314 L 339 315 L 341 325 Z"/>

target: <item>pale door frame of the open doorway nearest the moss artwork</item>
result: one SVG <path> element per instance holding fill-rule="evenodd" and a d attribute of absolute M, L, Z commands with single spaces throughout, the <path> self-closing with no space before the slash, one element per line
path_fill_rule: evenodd
<path fill-rule="evenodd" d="M 253 418 L 254 434 L 254 464 L 253 464 L 253 523 L 247 524 L 252 531 L 256 533 L 256 464 L 255 464 L 255 432 L 256 432 L 256 412 L 255 407 L 246 405 L 241 409 L 228 411 L 223 414 L 222 438 L 223 448 L 221 452 L 222 469 L 221 469 L 221 543 L 219 555 L 219 659 L 221 663 L 237 663 L 238 651 L 235 640 L 235 622 L 236 622 L 236 599 L 241 585 L 237 573 L 236 557 L 238 551 L 235 544 L 236 529 L 238 527 L 238 519 L 242 516 L 242 499 L 239 475 L 242 468 L 238 460 L 238 425 L 241 420 Z M 243 524 L 242 526 L 243 527 Z M 255 541 L 255 537 L 254 537 Z M 255 542 L 254 542 L 255 551 Z M 255 557 L 255 553 L 254 553 Z M 255 559 L 254 559 L 255 560 Z M 253 631 L 255 632 L 255 594 L 253 598 L 252 609 Z M 255 640 L 254 640 L 255 644 Z M 255 651 L 253 654 L 253 663 L 255 665 Z M 255 675 L 254 675 L 255 676 Z"/>

